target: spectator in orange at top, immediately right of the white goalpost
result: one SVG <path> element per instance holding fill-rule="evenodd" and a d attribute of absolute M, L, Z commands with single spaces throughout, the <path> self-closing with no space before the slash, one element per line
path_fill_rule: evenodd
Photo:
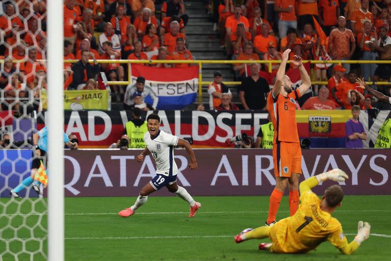
<path fill-rule="evenodd" d="M 67 0 L 64 5 L 64 40 L 75 43 L 77 25 L 76 21 L 80 12 L 75 8 L 75 0 Z"/>

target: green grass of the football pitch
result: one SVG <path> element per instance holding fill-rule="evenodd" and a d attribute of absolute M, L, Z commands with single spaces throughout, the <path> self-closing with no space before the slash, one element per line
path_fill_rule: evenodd
<path fill-rule="evenodd" d="M 359 220 L 368 221 L 372 226 L 370 238 L 351 256 L 342 255 L 328 242 L 307 254 L 274 254 L 259 251 L 258 244 L 270 242 L 269 239 L 235 244 L 234 236 L 242 229 L 255 228 L 265 223 L 269 197 L 194 199 L 203 204 L 194 218 L 188 217 L 188 205 L 179 197 L 153 195 L 135 215 L 121 218 L 117 213 L 132 205 L 135 197 L 66 198 L 65 259 L 389 260 L 391 256 L 391 205 L 387 203 L 390 196 L 345 196 L 342 207 L 333 214 L 342 223 L 349 242 L 357 233 Z M 10 199 L 0 200 L 5 203 Z M 13 214 L 15 206 L 16 204 L 8 205 L 7 214 Z M 21 212 L 25 213 L 24 209 L 28 207 L 22 204 Z M 1 212 L 3 210 L 0 210 Z M 10 217 L 4 214 L 0 216 L 0 228 L 7 222 L 6 216 Z M 277 219 L 287 216 L 288 197 L 284 197 Z M 27 223 L 36 219 L 37 216 L 28 218 Z M 13 219 L 15 226 L 20 221 L 21 218 Z M 43 225 L 46 226 L 46 218 L 43 219 Z M 4 240 L 12 238 L 13 233 L 8 229 L 1 236 Z M 29 233 L 21 231 L 18 237 L 29 238 Z M 26 248 L 29 249 L 29 246 Z M 0 253 L 4 249 L 2 243 Z M 42 259 L 36 257 L 34 260 Z M 29 259 L 27 255 L 19 256 L 19 260 Z M 3 256 L 3 260 L 14 258 L 6 255 Z"/>

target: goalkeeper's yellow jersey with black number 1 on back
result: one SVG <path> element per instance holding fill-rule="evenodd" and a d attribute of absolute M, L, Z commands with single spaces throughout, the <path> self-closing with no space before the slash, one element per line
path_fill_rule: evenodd
<path fill-rule="evenodd" d="M 282 219 L 271 227 L 271 251 L 279 253 L 305 253 L 324 241 L 339 248 L 348 247 L 341 223 L 321 210 L 321 199 L 312 191 L 300 196 L 301 204 L 296 214 Z"/>

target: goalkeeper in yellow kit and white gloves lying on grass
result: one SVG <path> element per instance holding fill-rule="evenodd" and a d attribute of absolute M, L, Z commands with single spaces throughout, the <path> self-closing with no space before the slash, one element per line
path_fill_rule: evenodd
<path fill-rule="evenodd" d="M 348 243 L 341 223 L 331 216 L 337 207 L 341 206 L 344 197 L 342 188 L 339 185 L 328 187 L 322 199 L 311 191 L 327 179 L 344 181 L 347 178 L 348 175 L 344 171 L 333 169 L 302 181 L 299 187 L 301 204 L 295 215 L 282 219 L 273 226 L 244 229 L 235 237 L 235 242 L 269 238 L 271 243 L 261 243 L 260 250 L 306 253 L 329 241 L 343 254 L 353 254 L 360 244 L 368 239 L 370 224 L 359 221 L 357 236 Z"/>

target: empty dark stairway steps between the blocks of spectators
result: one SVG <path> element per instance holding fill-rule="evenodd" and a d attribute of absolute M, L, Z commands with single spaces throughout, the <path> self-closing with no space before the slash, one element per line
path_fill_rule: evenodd
<path fill-rule="evenodd" d="M 189 21 L 186 25 L 186 41 L 188 49 L 197 60 L 227 60 L 224 50 L 220 48 L 218 32 L 213 32 L 213 23 L 205 12 L 204 3 L 200 0 L 185 1 L 186 14 Z M 213 81 L 213 73 L 218 70 L 223 75 L 223 82 L 234 81 L 232 65 L 204 64 L 202 68 L 203 81 Z M 237 88 L 230 88 L 233 97 L 237 97 Z M 202 101 L 209 108 L 207 86 L 203 87 Z M 238 101 L 234 98 L 233 101 Z"/>

